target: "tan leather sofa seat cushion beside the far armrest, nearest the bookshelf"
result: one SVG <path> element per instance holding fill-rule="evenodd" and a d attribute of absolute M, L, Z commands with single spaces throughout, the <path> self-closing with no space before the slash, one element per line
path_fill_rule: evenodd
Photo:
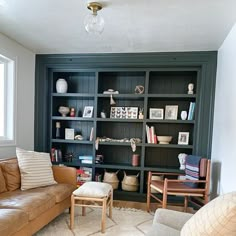
<path fill-rule="evenodd" d="M 75 190 L 75 186 L 71 184 L 54 184 L 51 186 L 37 188 L 36 191 L 45 192 L 53 195 L 56 198 L 56 203 L 65 200 L 70 197 L 72 192 Z"/>

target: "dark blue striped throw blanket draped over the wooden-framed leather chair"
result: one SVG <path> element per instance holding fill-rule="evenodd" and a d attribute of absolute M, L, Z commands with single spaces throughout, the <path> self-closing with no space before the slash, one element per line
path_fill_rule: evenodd
<path fill-rule="evenodd" d="M 186 166 L 185 166 L 186 179 L 199 180 L 200 161 L 201 161 L 200 156 L 188 155 L 186 157 Z M 186 185 L 195 188 L 197 187 L 196 183 L 186 183 Z"/>

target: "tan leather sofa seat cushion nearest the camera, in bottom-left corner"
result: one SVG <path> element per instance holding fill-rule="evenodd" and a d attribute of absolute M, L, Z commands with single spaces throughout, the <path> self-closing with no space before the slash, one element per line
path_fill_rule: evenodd
<path fill-rule="evenodd" d="M 19 209 L 0 209 L 0 235 L 12 235 L 28 223 L 28 215 Z"/>

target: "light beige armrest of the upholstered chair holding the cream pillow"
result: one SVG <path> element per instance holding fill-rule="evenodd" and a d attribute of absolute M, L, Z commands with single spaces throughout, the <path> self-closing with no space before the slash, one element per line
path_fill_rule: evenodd
<path fill-rule="evenodd" d="M 193 214 L 190 213 L 160 208 L 155 212 L 153 224 L 160 223 L 171 228 L 181 230 L 192 215 Z"/>

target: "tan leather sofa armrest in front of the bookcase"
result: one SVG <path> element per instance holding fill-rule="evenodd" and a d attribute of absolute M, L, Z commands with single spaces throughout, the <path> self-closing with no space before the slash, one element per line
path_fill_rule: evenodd
<path fill-rule="evenodd" d="M 76 168 L 67 166 L 52 166 L 53 176 L 57 183 L 77 185 Z"/>

